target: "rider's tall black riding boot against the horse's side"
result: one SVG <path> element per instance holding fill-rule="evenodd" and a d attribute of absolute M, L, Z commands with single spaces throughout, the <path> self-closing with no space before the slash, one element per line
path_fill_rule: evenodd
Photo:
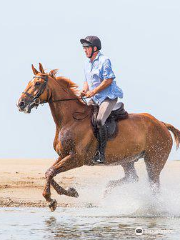
<path fill-rule="evenodd" d="M 107 129 L 105 125 L 98 128 L 97 139 L 98 139 L 98 151 L 96 152 L 94 161 L 95 163 L 104 163 L 105 162 L 104 152 L 107 142 Z"/>

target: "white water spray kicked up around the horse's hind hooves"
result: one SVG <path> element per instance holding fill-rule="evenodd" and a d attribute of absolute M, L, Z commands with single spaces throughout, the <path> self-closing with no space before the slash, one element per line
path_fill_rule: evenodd
<path fill-rule="evenodd" d="M 141 179 L 114 188 L 99 206 L 116 216 L 180 217 L 180 184 L 174 185 L 163 182 L 160 193 L 153 195 L 147 180 Z"/>

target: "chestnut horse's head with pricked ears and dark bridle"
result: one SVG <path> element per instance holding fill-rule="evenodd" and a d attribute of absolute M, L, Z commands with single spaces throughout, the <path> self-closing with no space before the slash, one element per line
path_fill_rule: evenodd
<path fill-rule="evenodd" d="M 30 113 L 32 108 L 37 108 L 39 104 L 48 102 L 50 98 L 50 90 L 47 83 L 49 78 L 51 78 L 51 74 L 44 72 L 41 63 L 39 63 L 39 71 L 37 71 L 33 65 L 32 70 L 34 77 L 28 83 L 17 103 L 19 111 L 25 113 Z"/>

